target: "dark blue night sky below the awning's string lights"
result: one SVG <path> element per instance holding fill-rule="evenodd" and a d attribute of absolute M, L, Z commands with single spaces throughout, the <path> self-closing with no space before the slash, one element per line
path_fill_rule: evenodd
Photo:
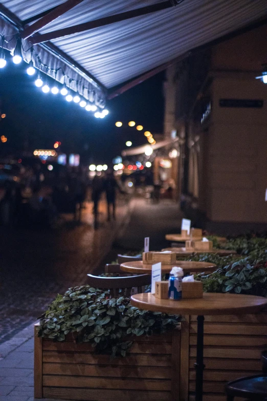
<path fill-rule="evenodd" d="M 8 138 L 0 142 L 0 157 L 8 152 L 19 157 L 22 150 L 53 149 L 54 142 L 61 141 L 63 153 L 79 153 L 88 163 L 109 163 L 126 148 L 127 140 L 133 146 L 147 143 L 144 131 L 129 128 L 128 121 L 136 121 L 152 134 L 163 131 L 164 73 L 108 101 L 108 116 L 97 119 L 61 94 L 44 94 L 34 85 L 36 75 L 27 75 L 27 67 L 8 60 L 0 70 L 1 110 L 6 114 L 0 133 Z M 117 128 L 116 121 L 123 126 Z"/>

